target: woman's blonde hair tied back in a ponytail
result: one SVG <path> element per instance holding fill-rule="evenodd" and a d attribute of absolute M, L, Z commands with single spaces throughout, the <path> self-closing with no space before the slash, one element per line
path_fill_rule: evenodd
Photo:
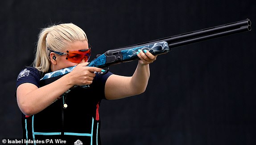
<path fill-rule="evenodd" d="M 87 40 L 85 32 L 74 24 L 58 24 L 43 28 L 38 36 L 37 52 L 33 67 L 41 72 L 50 68 L 50 50 L 62 52 L 67 44 Z M 88 40 L 87 40 L 88 41 Z"/>

